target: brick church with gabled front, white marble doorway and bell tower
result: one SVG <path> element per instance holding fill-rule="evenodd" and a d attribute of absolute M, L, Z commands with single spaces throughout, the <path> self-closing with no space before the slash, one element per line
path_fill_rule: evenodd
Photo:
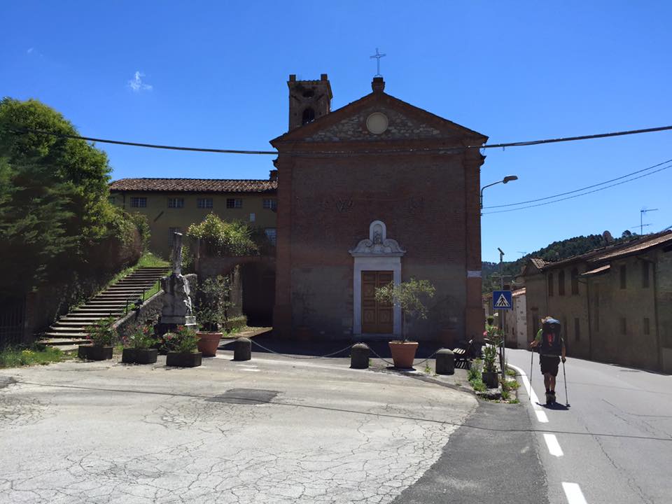
<path fill-rule="evenodd" d="M 289 131 L 279 151 L 274 330 L 310 337 L 401 334 L 400 310 L 376 286 L 411 278 L 436 287 L 407 335 L 482 332 L 479 184 L 483 134 L 384 92 L 330 111 L 320 80 L 290 76 Z"/>

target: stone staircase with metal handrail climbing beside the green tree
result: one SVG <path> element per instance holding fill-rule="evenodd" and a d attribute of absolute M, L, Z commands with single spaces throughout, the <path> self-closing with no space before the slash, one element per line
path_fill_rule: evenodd
<path fill-rule="evenodd" d="M 142 267 L 111 285 L 107 290 L 92 297 L 82 306 L 62 316 L 43 334 L 43 343 L 71 349 L 73 345 L 86 343 L 86 330 L 95 321 L 108 316 L 121 318 L 129 305 L 143 296 L 144 290 L 168 274 L 167 267 Z M 66 348 L 67 347 L 67 348 Z"/>

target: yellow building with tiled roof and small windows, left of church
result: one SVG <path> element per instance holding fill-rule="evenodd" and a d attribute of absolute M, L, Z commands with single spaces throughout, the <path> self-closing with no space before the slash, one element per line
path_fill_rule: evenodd
<path fill-rule="evenodd" d="M 164 258 L 172 250 L 174 232 L 186 232 L 190 224 L 200 223 L 210 213 L 262 229 L 274 242 L 276 192 L 274 176 L 270 180 L 120 179 L 110 184 L 113 204 L 147 217 L 149 248 Z"/>

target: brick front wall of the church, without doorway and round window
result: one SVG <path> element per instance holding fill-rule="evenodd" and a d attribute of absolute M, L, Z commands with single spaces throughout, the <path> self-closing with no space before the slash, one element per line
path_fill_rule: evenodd
<path fill-rule="evenodd" d="M 349 250 L 368 238 L 370 223 L 379 220 L 387 237 L 407 251 L 401 258 L 402 281 L 428 279 L 437 288 L 430 317 L 410 327 L 409 335 L 436 339 L 448 320 L 460 336 L 482 332 L 480 278 L 468 282 L 467 271 L 481 268 L 483 158 L 477 149 L 434 150 L 463 145 L 477 134 L 467 139 L 455 130 L 447 133 L 435 116 L 425 113 L 423 122 L 423 116 L 396 106 L 386 94 L 378 100 L 375 95 L 323 129 L 274 144 L 280 151 L 274 329 L 291 335 L 307 325 L 313 337 L 351 335 L 354 260 Z M 385 113 L 390 122 L 379 136 L 365 128 L 373 111 Z M 399 152 L 418 139 L 432 150 Z"/>

